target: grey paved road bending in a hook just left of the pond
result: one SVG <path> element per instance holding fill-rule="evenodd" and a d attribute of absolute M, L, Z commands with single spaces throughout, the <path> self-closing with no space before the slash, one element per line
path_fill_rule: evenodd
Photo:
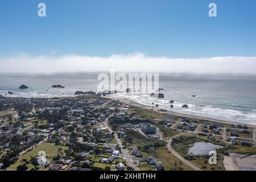
<path fill-rule="evenodd" d="M 184 164 L 186 164 L 187 166 L 193 168 L 196 171 L 201 171 L 201 169 L 197 166 L 195 166 L 194 164 L 192 164 L 191 162 L 189 162 L 188 160 L 184 159 L 183 156 L 181 156 L 178 152 L 176 152 L 174 150 L 174 148 L 172 148 L 172 139 L 176 138 L 176 137 L 180 137 L 181 135 L 187 135 L 187 134 L 192 134 L 193 132 L 188 132 L 188 133 L 181 133 L 181 134 L 177 134 L 174 137 L 172 137 L 167 144 L 167 148 L 168 150 L 174 155 L 176 156 L 176 158 L 180 159 L 181 162 L 183 162 Z"/>

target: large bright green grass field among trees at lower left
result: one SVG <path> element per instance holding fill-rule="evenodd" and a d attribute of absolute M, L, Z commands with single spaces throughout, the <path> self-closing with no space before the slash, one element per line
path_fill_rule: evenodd
<path fill-rule="evenodd" d="M 47 155 L 47 160 L 51 161 L 51 158 L 57 155 L 59 148 L 62 148 L 63 151 L 68 149 L 68 147 L 66 146 L 55 146 L 55 144 L 53 143 L 42 143 L 40 144 L 40 146 L 35 147 L 33 150 L 27 152 L 26 154 L 19 156 L 17 162 L 11 165 L 9 168 L 16 169 L 20 164 L 23 164 L 22 159 L 30 160 L 31 156 L 35 157 L 36 155 L 38 155 L 39 151 L 45 151 Z M 28 168 L 34 167 L 32 164 L 28 164 L 27 166 Z"/>

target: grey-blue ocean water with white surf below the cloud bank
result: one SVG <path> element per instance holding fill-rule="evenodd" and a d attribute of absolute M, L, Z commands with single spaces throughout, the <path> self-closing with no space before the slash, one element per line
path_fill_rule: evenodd
<path fill-rule="evenodd" d="M 11 97 L 74 96 L 77 90 L 97 91 L 98 73 L 58 75 L 0 75 L 0 94 L 14 92 Z M 19 89 L 20 85 L 28 89 Z M 60 84 L 64 89 L 51 88 Z M 159 108 L 177 113 L 199 115 L 226 121 L 256 125 L 256 77 L 245 76 L 185 76 L 159 74 L 160 93 L 164 98 L 150 94 L 117 93 L 112 97 L 129 98 L 143 105 L 158 104 Z M 48 91 L 47 91 L 48 90 Z M 196 97 L 192 97 L 195 95 Z M 7 96 L 9 96 L 7 94 Z M 174 100 L 171 109 L 170 101 Z M 187 104 L 188 109 L 182 105 Z"/>

